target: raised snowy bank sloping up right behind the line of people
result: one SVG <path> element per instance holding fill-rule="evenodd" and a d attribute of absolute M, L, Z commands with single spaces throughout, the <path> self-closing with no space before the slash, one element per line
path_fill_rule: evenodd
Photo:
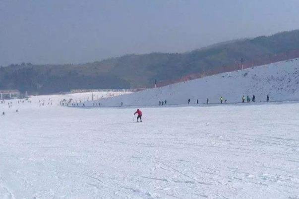
<path fill-rule="evenodd" d="M 219 103 L 220 96 L 227 102 L 240 102 L 245 97 L 255 95 L 255 101 L 299 100 L 299 59 L 258 66 L 243 71 L 223 73 L 197 80 L 176 83 L 160 88 L 122 95 L 110 99 L 99 100 L 103 106 L 158 105 L 167 100 L 167 104 Z M 86 103 L 92 106 L 93 102 Z"/>

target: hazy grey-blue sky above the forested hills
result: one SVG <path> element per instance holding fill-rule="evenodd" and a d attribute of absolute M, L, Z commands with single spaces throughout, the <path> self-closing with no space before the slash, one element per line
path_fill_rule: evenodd
<path fill-rule="evenodd" d="M 0 65 L 184 52 L 299 29 L 299 0 L 0 0 Z"/>

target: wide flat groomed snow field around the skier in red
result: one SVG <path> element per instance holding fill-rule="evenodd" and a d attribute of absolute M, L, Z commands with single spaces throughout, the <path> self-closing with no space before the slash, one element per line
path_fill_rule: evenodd
<path fill-rule="evenodd" d="M 136 123 L 44 99 L 0 104 L 1 199 L 299 198 L 299 103 L 141 107 Z"/>

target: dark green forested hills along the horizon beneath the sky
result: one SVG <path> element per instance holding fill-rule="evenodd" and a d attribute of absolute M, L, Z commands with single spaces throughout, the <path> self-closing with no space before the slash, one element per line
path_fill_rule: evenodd
<path fill-rule="evenodd" d="M 132 54 L 78 65 L 12 64 L 0 68 L 0 89 L 48 94 L 69 89 L 151 87 L 155 80 L 223 72 L 226 65 L 236 65 L 241 58 L 250 62 L 260 56 L 298 48 L 299 30 L 295 30 L 214 44 L 185 53 Z"/>

